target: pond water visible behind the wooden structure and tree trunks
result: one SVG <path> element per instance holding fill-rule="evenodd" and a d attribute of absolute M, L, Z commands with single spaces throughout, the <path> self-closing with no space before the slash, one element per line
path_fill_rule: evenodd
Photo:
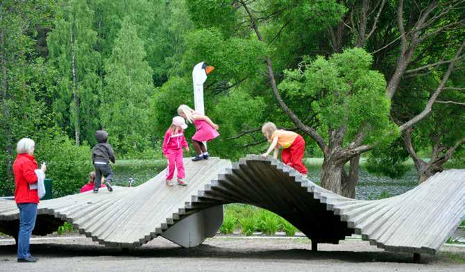
<path fill-rule="evenodd" d="M 115 172 L 115 184 L 120 186 L 127 186 L 128 179 L 135 180 L 134 185 L 140 185 L 154 176 L 157 176 L 160 171 L 166 167 L 162 161 L 155 161 L 152 163 L 137 163 L 130 162 L 117 164 L 113 167 Z M 308 178 L 313 182 L 319 184 L 321 176 L 321 167 L 314 164 L 308 165 Z M 360 167 L 359 182 L 356 187 L 357 199 L 376 199 L 380 196 L 396 196 L 403 194 L 409 189 L 417 185 L 416 170 L 412 167 L 402 178 L 389 178 L 384 176 L 375 176 L 368 173 L 363 167 Z"/>

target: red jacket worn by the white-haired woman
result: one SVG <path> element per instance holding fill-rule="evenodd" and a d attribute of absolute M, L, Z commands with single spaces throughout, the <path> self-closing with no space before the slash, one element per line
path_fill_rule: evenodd
<path fill-rule="evenodd" d="M 30 184 L 37 182 L 35 169 L 37 169 L 37 162 L 35 162 L 33 155 L 28 153 L 17 155 L 15 163 L 13 163 L 16 203 L 39 203 L 37 189 L 29 189 Z"/>

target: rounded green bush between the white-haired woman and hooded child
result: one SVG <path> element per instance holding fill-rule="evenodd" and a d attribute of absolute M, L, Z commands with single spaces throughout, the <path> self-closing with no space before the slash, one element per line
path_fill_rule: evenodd
<path fill-rule="evenodd" d="M 78 193 L 93 170 L 90 146 L 76 146 L 58 128 L 47 130 L 35 146 L 37 163 L 47 162 L 46 176 L 53 179 L 53 197 Z"/>

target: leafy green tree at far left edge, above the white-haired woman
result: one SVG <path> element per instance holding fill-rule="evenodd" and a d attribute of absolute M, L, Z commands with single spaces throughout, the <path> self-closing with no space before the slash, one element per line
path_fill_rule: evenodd
<path fill-rule="evenodd" d="M 15 142 L 37 135 L 36 126 L 47 120 L 42 84 L 49 73 L 37 59 L 35 39 L 54 9 L 54 1 L 0 2 L 0 172 L 10 184 Z"/>

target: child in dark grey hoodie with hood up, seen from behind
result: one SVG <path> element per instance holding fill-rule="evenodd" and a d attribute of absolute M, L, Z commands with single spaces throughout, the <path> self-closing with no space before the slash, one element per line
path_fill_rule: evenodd
<path fill-rule="evenodd" d="M 92 163 L 95 168 L 94 193 L 99 192 L 101 186 L 101 178 L 105 177 L 105 186 L 108 191 L 112 192 L 113 188 L 110 182 L 113 180 L 113 173 L 110 167 L 110 160 L 115 163 L 115 151 L 112 146 L 107 143 L 108 133 L 105 130 L 97 130 L 95 139 L 98 144 L 92 148 Z"/>

